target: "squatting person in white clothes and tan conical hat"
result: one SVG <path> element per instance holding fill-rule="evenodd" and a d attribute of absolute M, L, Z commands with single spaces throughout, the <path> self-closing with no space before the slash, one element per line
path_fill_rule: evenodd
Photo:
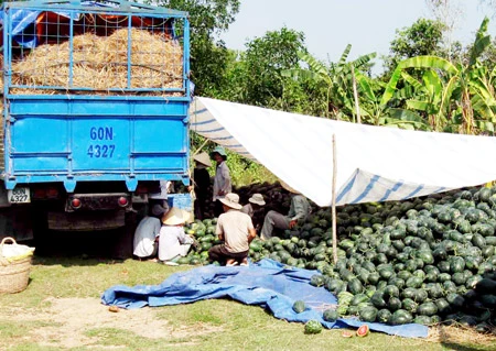
<path fill-rule="evenodd" d="M 187 255 L 193 238 L 184 232 L 184 224 L 192 221 L 190 212 L 172 207 L 162 218 L 159 235 L 159 260 L 165 264 L 176 265 L 175 261 Z"/>

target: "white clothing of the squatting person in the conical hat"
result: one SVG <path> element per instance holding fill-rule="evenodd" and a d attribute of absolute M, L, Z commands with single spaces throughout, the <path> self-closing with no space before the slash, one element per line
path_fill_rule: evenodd
<path fill-rule="evenodd" d="M 163 226 L 160 229 L 159 260 L 169 261 L 177 255 L 185 256 L 193 243 L 183 227 Z"/>

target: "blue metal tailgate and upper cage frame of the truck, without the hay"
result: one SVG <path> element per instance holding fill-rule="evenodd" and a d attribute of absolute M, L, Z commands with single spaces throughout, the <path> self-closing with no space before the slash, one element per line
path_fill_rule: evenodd
<path fill-rule="evenodd" d="M 12 83 L 13 44 L 12 33 L 15 11 L 55 11 L 53 4 L 41 1 L 6 3 L 3 8 L 4 43 L 4 158 L 2 177 L 6 187 L 17 184 L 63 182 L 67 191 L 73 191 L 77 182 L 122 180 L 133 191 L 139 180 L 188 182 L 188 118 L 190 105 L 190 30 L 187 14 L 154 8 L 112 1 L 117 8 L 105 9 L 105 13 L 128 15 L 127 28 L 131 29 L 131 15 L 147 18 L 181 19 L 182 29 L 182 88 L 131 87 L 131 53 L 128 53 L 128 86 L 125 89 L 108 89 L 99 95 L 88 87 L 73 87 L 72 52 L 69 55 L 71 78 L 67 86 L 25 86 Z M 119 7 L 120 4 L 120 7 Z M 69 45 L 73 22 L 80 13 L 100 13 L 95 2 L 62 1 L 57 11 L 68 14 Z M 98 6 L 97 6 L 98 7 Z M 7 10 L 8 11 L 7 11 Z M 31 11 L 31 12 L 30 12 Z M 33 17 L 35 18 L 35 17 Z M 126 28 L 125 25 L 125 28 Z M 19 23 L 15 22 L 15 28 Z M 10 31 L 10 32 L 9 32 Z M 15 33 L 22 36 L 21 33 Z M 129 37 L 130 40 L 130 37 Z M 128 43 L 130 50 L 131 43 Z M 72 47 L 72 46 L 71 46 Z M 33 89 L 33 95 L 12 94 L 14 88 Z M 46 95 L 46 89 L 58 94 Z M 52 91 L 50 90 L 50 91 Z M 112 91 L 119 90 L 119 94 Z M 153 96 L 155 92 L 166 97 Z M 180 94 L 171 94 L 179 91 Z M 144 92 L 140 95 L 140 92 Z"/>

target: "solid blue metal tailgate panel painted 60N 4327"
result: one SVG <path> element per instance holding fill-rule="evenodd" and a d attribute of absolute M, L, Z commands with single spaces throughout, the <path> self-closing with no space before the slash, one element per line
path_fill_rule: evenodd
<path fill-rule="evenodd" d="M 55 97 L 31 103 L 32 98 L 11 97 L 4 171 L 9 189 L 17 183 L 62 180 L 69 190 L 74 182 L 105 178 L 128 180 L 134 190 L 138 180 L 186 180 L 187 102 L 95 99 Z"/>

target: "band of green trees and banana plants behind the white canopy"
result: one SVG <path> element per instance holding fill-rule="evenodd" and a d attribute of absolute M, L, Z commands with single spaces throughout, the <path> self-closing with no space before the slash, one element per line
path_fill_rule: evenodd
<path fill-rule="evenodd" d="M 235 21 L 240 0 L 158 3 L 191 13 L 192 79 L 197 96 L 349 122 L 494 135 L 496 51 L 487 32 L 489 19 L 464 46 L 451 40 L 460 18 L 456 2 L 425 1 L 434 19 L 419 19 L 397 30 L 389 55 L 380 57 L 385 70 L 379 76 L 371 75 L 379 58 L 376 53 L 349 61 L 351 43 L 338 62 L 321 62 L 309 53 L 304 33 L 289 28 L 248 41 L 245 51 L 226 48 L 219 34 Z M 193 138 L 194 150 L 203 143 Z M 207 150 L 211 146 L 207 143 Z M 236 156 L 228 165 L 237 184 L 270 175 Z"/>

